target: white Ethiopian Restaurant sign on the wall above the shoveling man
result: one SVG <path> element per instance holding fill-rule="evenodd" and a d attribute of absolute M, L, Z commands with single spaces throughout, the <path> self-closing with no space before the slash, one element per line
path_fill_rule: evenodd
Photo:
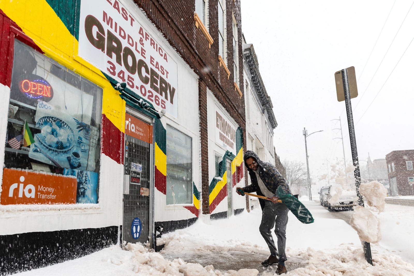
<path fill-rule="evenodd" d="M 216 143 L 236 155 L 236 127 L 216 107 Z"/>

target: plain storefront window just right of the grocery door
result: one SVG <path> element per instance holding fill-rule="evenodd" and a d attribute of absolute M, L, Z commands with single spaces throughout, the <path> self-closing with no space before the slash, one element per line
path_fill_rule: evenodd
<path fill-rule="evenodd" d="M 193 203 L 191 137 L 167 126 L 167 204 Z"/>

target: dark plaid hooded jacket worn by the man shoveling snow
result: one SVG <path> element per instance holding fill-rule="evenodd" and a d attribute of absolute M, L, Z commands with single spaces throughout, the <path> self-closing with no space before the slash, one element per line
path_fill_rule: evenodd
<path fill-rule="evenodd" d="M 251 184 L 243 187 L 244 192 L 256 192 L 258 195 L 264 196 L 260 187 L 258 185 L 258 180 L 256 178 L 256 173 L 250 169 L 246 163 L 246 160 L 250 157 L 255 159 L 256 163 L 258 164 L 258 173 L 260 178 L 262 179 L 263 183 L 267 187 L 267 189 L 274 194 L 276 197 L 276 190 L 280 186 L 284 190 L 286 194 L 291 194 L 289 185 L 287 185 L 286 180 L 284 177 L 279 173 L 277 168 L 272 165 L 271 163 L 263 162 L 259 159 L 259 156 L 254 151 L 246 151 L 244 154 L 244 165 L 246 166 L 249 175 Z M 264 199 L 259 198 L 260 206 L 263 209 Z"/>

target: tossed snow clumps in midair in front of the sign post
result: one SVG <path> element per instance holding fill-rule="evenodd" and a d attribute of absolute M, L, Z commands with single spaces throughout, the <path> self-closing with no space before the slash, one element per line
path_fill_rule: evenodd
<path fill-rule="evenodd" d="M 387 190 L 377 182 L 361 183 L 359 192 L 365 197 L 368 206 L 372 206 L 378 213 L 385 208 Z M 351 218 L 351 226 L 358 232 L 359 238 L 366 242 L 377 243 L 381 240 L 380 220 L 363 206 L 354 207 L 354 215 Z"/>

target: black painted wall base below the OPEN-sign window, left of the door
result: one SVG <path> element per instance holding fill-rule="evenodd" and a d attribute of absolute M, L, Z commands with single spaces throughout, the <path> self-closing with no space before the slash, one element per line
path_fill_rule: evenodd
<path fill-rule="evenodd" d="M 0 236 L 0 275 L 83 257 L 117 243 L 118 226 Z"/>

